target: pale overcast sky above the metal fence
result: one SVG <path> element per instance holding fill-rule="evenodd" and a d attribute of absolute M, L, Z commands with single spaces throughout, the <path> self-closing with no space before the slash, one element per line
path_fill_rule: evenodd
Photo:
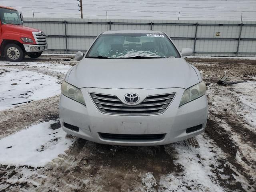
<path fill-rule="evenodd" d="M 82 0 L 84 18 L 256 20 L 256 0 Z M 78 0 L 0 0 L 24 17 L 80 18 Z"/>

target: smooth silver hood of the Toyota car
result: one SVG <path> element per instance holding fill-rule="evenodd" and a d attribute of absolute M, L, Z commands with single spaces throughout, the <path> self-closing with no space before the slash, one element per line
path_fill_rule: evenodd
<path fill-rule="evenodd" d="M 194 68 L 183 58 L 94 59 L 83 58 L 66 79 L 78 87 L 189 88 L 199 82 Z"/>

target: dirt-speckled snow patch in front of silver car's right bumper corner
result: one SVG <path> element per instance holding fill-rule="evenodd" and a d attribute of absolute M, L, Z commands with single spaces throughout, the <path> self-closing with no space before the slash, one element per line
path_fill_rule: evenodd
<path fill-rule="evenodd" d="M 208 138 L 206 134 L 196 136 L 196 140 L 200 148 L 188 146 L 184 141 L 172 144 L 175 147 L 176 160 L 174 164 L 180 164 L 183 172 L 172 172 L 170 174 L 162 175 L 159 181 L 159 190 L 163 192 L 182 192 L 182 191 L 197 191 L 197 192 L 224 192 L 226 191 L 218 182 L 218 177 L 226 180 L 228 184 L 232 185 L 233 175 L 226 174 L 223 168 L 220 168 L 220 159 L 226 160 L 226 154 L 216 146 L 215 142 Z M 165 146 L 168 148 L 169 146 Z M 239 155 L 239 152 L 237 156 Z M 240 159 L 238 156 L 237 158 Z M 227 161 L 226 161 L 227 162 Z M 224 164 L 234 169 L 232 164 Z M 218 172 L 218 175 L 216 174 Z M 237 176 L 234 177 L 237 182 L 240 182 L 245 191 L 253 191 L 254 189 L 248 188 L 250 184 L 246 178 L 236 172 Z M 230 182 L 231 180 L 231 182 Z M 148 172 L 142 176 L 142 184 L 146 191 L 156 192 L 156 179 L 153 174 Z"/>

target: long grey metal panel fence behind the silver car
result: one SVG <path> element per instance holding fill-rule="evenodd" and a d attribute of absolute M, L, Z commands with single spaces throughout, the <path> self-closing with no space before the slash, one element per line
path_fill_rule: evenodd
<path fill-rule="evenodd" d="M 255 21 L 25 18 L 48 35 L 48 53 L 85 51 L 105 30 L 160 30 L 196 56 L 256 56 Z"/>

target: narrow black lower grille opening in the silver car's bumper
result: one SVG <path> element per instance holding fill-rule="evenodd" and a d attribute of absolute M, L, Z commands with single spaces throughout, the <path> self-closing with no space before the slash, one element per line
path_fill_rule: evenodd
<path fill-rule="evenodd" d="M 158 141 L 164 139 L 165 134 L 110 134 L 110 133 L 99 133 L 102 139 L 106 140 L 119 140 L 119 141 Z"/>

